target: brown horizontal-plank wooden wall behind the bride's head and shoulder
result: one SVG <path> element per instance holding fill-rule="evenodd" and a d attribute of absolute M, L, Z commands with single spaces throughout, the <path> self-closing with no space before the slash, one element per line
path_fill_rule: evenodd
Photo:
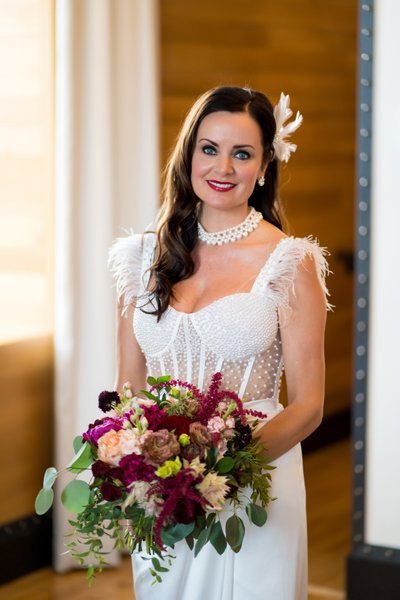
<path fill-rule="evenodd" d="M 328 246 L 336 305 L 327 328 L 326 414 L 350 404 L 356 0 L 160 0 L 162 151 L 193 100 L 220 84 L 289 93 L 304 125 L 283 168 L 291 233 Z"/>

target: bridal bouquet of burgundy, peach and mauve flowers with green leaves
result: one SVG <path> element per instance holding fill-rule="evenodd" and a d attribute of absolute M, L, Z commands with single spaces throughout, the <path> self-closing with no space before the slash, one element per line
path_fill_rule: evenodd
<path fill-rule="evenodd" d="M 89 561 L 89 580 L 105 563 L 105 537 L 116 548 L 145 551 L 161 581 L 181 540 L 195 556 L 208 542 L 219 554 L 228 545 L 239 552 L 245 525 L 238 507 L 251 523 L 265 523 L 272 467 L 252 432 L 266 415 L 246 410 L 221 380 L 216 373 L 204 394 L 168 376 L 149 377 L 150 390 L 136 396 L 129 384 L 121 395 L 100 394 L 106 416 L 75 439 L 66 467 L 74 478 L 61 494 L 76 514 L 68 546 L 81 564 Z M 46 470 L 38 514 L 51 507 L 59 474 Z M 222 508 L 231 510 L 224 528 Z"/>

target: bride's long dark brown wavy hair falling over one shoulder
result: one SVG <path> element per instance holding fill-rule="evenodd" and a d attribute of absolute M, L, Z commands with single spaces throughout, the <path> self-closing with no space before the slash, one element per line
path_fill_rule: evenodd
<path fill-rule="evenodd" d="M 173 286 L 194 272 L 192 251 L 198 242 L 199 198 L 191 183 L 191 165 L 197 132 L 203 119 L 214 112 L 247 112 L 259 125 L 263 161 L 269 163 L 265 186 L 256 185 L 249 206 L 269 223 L 283 229 L 278 198 L 278 162 L 274 160 L 276 132 L 273 106 L 261 92 L 222 86 L 205 92 L 190 109 L 164 171 L 163 203 L 157 220 L 157 251 L 150 268 L 151 299 L 158 320 L 168 308 Z M 154 302 L 153 302 L 154 301 Z"/>

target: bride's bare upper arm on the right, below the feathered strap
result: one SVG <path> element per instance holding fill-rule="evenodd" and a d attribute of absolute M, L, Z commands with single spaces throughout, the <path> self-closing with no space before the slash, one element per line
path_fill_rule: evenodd
<path fill-rule="evenodd" d="M 325 388 L 326 299 L 315 260 L 307 255 L 289 293 L 290 314 L 280 310 L 288 402 L 302 402 L 322 417 Z"/>

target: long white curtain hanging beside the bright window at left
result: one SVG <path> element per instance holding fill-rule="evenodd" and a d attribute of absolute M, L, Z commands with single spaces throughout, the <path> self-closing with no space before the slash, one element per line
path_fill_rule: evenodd
<path fill-rule="evenodd" d="M 56 1 L 56 465 L 114 381 L 112 239 L 159 197 L 157 0 Z M 57 504 L 54 563 L 68 515 Z"/>

